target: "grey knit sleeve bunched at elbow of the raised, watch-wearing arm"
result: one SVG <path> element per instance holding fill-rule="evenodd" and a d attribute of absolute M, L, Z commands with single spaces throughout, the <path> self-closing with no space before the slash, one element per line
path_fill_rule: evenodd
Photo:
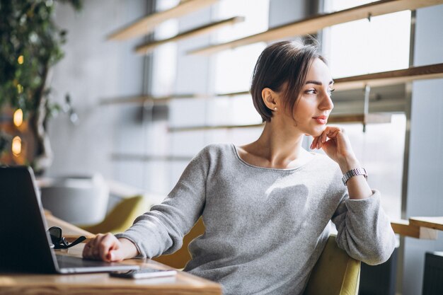
<path fill-rule="evenodd" d="M 367 199 L 350 199 L 345 193 L 332 221 L 338 231 L 338 246 L 352 258 L 378 265 L 391 257 L 396 238 L 381 208 L 379 191 L 373 190 Z"/>

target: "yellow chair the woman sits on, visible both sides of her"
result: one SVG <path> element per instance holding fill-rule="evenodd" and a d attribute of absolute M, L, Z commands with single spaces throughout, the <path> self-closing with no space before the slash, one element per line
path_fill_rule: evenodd
<path fill-rule="evenodd" d="M 161 255 L 154 260 L 181 269 L 190 260 L 188 244 L 205 232 L 200 218 L 183 238 L 183 246 L 176 253 Z M 330 236 L 323 253 L 313 267 L 304 295 L 357 295 L 360 279 L 360 262 L 338 248 L 335 236 Z"/>

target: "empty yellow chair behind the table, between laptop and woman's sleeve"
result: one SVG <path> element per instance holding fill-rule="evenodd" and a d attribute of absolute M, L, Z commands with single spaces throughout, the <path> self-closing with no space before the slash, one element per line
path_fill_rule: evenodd
<path fill-rule="evenodd" d="M 122 199 L 120 203 L 105 216 L 105 219 L 98 224 L 91 226 L 79 226 L 90 233 L 122 233 L 129 229 L 143 211 L 147 211 L 144 206 L 144 197 L 135 196 Z"/>

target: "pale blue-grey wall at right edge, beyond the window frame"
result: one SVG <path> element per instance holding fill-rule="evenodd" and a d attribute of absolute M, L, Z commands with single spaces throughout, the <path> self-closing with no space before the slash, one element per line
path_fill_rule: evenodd
<path fill-rule="evenodd" d="M 417 11 L 414 66 L 443 62 L 443 5 Z M 443 79 L 413 82 L 406 216 L 443 216 Z M 405 238 L 403 295 L 422 293 L 425 252 L 437 241 Z"/>

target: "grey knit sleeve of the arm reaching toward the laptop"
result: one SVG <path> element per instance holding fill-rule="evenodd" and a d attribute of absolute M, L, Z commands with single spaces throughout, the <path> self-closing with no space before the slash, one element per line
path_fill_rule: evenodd
<path fill-rule="evenodd" d="M 207 148 L 190 161 L 166 199 L 135 219 L 134 224 L 117 238 L 132 241 L 139 257 L 154 258 L 180 249 L 183 236 L 190 231 L 205 206 L 209 168 Z"/>

